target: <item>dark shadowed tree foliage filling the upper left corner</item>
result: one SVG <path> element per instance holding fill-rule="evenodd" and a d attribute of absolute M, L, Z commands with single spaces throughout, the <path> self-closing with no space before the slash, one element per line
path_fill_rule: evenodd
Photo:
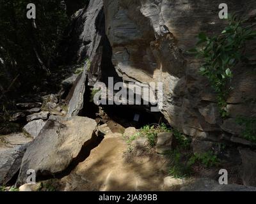
<path fill-rule="evenodd" d="M 36 19 L 26 17 L 27 0 L 0 1 L 0 88 L 28 91 L 54 68 L 56 48 L 68 18 L 60 0 L 35 0 Z M 1 90 L 3 92 L 3 90 Z M 20 90 L 19 90 L 20 91 Z"/>

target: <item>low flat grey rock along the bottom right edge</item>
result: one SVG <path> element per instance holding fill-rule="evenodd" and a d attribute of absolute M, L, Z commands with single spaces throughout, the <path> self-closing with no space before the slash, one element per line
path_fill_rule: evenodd
<path fill-rule="evenodd" d="M 196 179 L 186 183 L 180 191 L 256 191 L 256 187 L 237 184 L 220 185 L 211 179 Z"/>

